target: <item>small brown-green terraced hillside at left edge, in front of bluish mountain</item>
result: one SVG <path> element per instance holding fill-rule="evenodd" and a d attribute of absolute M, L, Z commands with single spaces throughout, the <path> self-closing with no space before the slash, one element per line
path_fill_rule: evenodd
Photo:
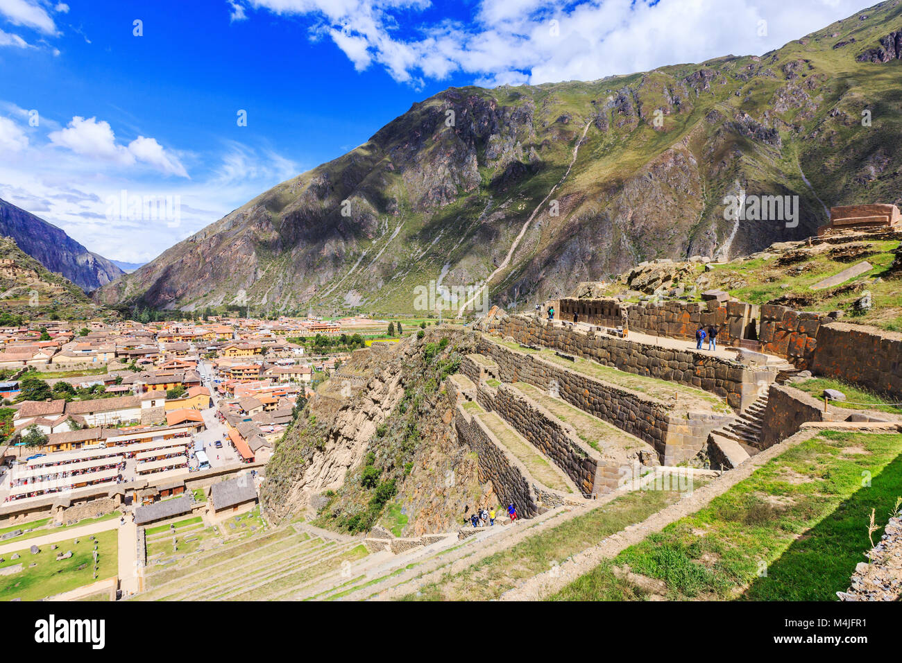
<path fill-rule="evenodd" d="M 0 236 L 0 318 L 87 319 L 110 314 L 75 283 L 47 270 L 11 237 Z M 10 317 L 14 317 L 11 319 Z"/>

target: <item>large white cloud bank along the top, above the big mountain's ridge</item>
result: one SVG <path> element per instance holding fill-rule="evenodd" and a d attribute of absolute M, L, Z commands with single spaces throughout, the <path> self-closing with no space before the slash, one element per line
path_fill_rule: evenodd
<path fill-rule="evenodd" d="M 376 63 L 411 85 L 457 72 L 500 85 L 761 54 L 854 14 L 867 0 L 482 0 L 468 23 L 415 25 L 410 15 L 428 6 L 423 0 L 228 2 L 244 5 L 243 18 L 244 7 L 308 17 L 312 38 L 328 35 L 358 70 Z"/>

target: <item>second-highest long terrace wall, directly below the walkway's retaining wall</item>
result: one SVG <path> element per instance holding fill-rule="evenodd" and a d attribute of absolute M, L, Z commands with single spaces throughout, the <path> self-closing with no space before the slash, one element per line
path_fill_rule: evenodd
<path fill-rule="evenodd" d="M 676 465 L 695 456 L 708 433 L 732 420 L 732 416 L 710 412 L 678 415 L 664 401 L 503 345 L 483 341 L 480 350 L 498 365 L 502 382 L 529 382 L 543 391 L 555 382 L 562 400 L 649 443 L 662 465 Z"/>

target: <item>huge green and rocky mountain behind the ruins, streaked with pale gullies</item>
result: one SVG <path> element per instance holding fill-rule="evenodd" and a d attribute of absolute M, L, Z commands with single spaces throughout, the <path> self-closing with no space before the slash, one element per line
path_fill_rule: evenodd
<path fill-rule="evenodd" d="M 427 313 L 418 286 L 488 281 L 517 307 L 643 260 L 804 238 L 827 207 L 902 202 L 900 30 L 888 2 L 760 57 L 451 88 L 96 297 Z M 736 220 L 725 197 L 743 195 L 793 213 Z"/>

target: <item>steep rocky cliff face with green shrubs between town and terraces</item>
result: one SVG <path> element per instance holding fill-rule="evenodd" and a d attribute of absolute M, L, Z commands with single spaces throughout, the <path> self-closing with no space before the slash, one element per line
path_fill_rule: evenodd
<path fill-rule="evenodd" d="M 473 349 L 461 332 L 430 329 L 422 339 L 355 353 L 276 447 L 264 507 L 276 518 L 306 513 L 351 532 L 455 529 L 493 495 L 457 440 L 443 385 Z"/>

